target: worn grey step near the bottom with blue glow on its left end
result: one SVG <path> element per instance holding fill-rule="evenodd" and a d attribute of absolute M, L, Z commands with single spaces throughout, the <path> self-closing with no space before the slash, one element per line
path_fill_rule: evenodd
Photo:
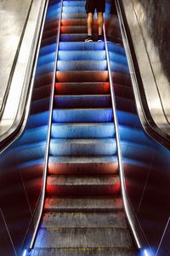
<path fill-rule="evenodd" d="M 129 232 L 122 228 L 107 229 L 40 229 L 35 247 L 77 248 L 77 247 L 133 247 Z"/>

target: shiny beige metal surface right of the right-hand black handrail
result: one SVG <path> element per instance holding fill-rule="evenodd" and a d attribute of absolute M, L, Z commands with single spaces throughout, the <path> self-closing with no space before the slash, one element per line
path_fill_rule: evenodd
<path fill-rule="evenodd" d="M 150 114 L 156 125 L 169 135 L 170 86 L 166 73 L 167 68 L 165 68 L 161 57 L 162 53 L 158 51 L 158 45 L 163 44 L 162 40 L 166 38 L 160 38 L 159 35 L 159 39 L 157 38 L 159 42 L 156 42 L 154 41 L 156 38 L 152 37 L 156 24 L 158 25 L 160 19 L 163 19 L 158 12 L 161 9 L 160 6 L 165 6 L 165 3 L 160 3 L 157 10 L 152 1 L 145 3 L 139 0 L 122 0 L 122 4 L 133 40 Z M 155 20 L 153 20 L 153 16 L 156 17 Z M 162 26 L 167 26 L 166 22 Z M 164 49 L 164 51 L 168 51 L 168 49 Z"/>

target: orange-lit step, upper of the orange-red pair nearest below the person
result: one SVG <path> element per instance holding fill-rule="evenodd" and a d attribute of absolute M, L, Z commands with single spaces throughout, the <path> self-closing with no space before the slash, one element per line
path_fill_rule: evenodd
<path fill-rule="evenodd" d="M 57 71 L 56 82 L 108 82 L 108 71 Z"/>

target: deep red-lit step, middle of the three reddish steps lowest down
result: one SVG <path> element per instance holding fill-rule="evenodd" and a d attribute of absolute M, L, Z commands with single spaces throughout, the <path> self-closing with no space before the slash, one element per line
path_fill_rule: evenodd
<path fill-rule="evenodd" d="M 73 176 L 49 175 L 46 191 L 48 195 L 119 195 L 120 178 L 117 175 Z"/>

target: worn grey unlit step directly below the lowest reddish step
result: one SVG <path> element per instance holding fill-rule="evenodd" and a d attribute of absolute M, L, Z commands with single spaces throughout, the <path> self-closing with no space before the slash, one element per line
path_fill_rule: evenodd
<path fill-rule="evenodd" d="M 124 212 L 45 212 L 42 228 L 127 228 Z"/>

